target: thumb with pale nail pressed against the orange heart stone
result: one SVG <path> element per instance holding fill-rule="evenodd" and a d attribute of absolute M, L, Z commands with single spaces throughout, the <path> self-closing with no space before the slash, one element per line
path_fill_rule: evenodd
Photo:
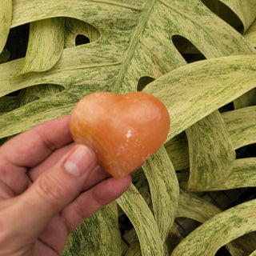
<path fill-rule="evenodd" d="M 79 145 L 41 174 L 18 200 L 19 216 L 24 216 L 26 228 L 41 234 L 50 220 L 78 197 L 95 166 L 94 152 Z"/>

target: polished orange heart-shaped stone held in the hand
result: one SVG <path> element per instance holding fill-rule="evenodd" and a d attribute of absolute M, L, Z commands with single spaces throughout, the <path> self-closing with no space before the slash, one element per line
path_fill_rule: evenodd
<path fill-rule="evenodd" d="M 166 140 L 170 117 L 158 98 L 143 92 L 97 92 L 82 98 L 71 114 L 74 141 L 90 146 L 99 164 L 124 178 Z"/>

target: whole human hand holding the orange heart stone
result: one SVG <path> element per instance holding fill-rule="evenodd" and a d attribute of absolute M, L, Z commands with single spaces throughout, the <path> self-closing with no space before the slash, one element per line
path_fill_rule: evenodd
<path fill-rule="evenodd" d="M 75 145 L 69 125 L 45 122 L 0 147 L 1 256 L 62 254 L 68 234 L 130 186 Z"/>

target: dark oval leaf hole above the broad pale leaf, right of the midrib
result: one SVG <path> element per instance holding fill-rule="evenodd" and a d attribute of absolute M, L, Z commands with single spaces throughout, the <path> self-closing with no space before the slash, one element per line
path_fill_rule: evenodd
<path fill-rule="evenodd" d="M 172 41 L 187 63 L 198 62 L 206 59 L 206 57 L 193 45 L 192 42 L 181 35 L 174 34 L 172 36 Z"/>

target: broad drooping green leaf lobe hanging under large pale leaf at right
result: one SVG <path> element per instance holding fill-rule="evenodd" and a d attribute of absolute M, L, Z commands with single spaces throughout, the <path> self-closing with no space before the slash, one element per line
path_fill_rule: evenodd
<path fill-rule="evenodd" d="M 218 111 L 186 129 L 190 150 L 190 178 L 187 190 L 208 190 L 226 178 L 235 152 L 222 116 Z"/>

